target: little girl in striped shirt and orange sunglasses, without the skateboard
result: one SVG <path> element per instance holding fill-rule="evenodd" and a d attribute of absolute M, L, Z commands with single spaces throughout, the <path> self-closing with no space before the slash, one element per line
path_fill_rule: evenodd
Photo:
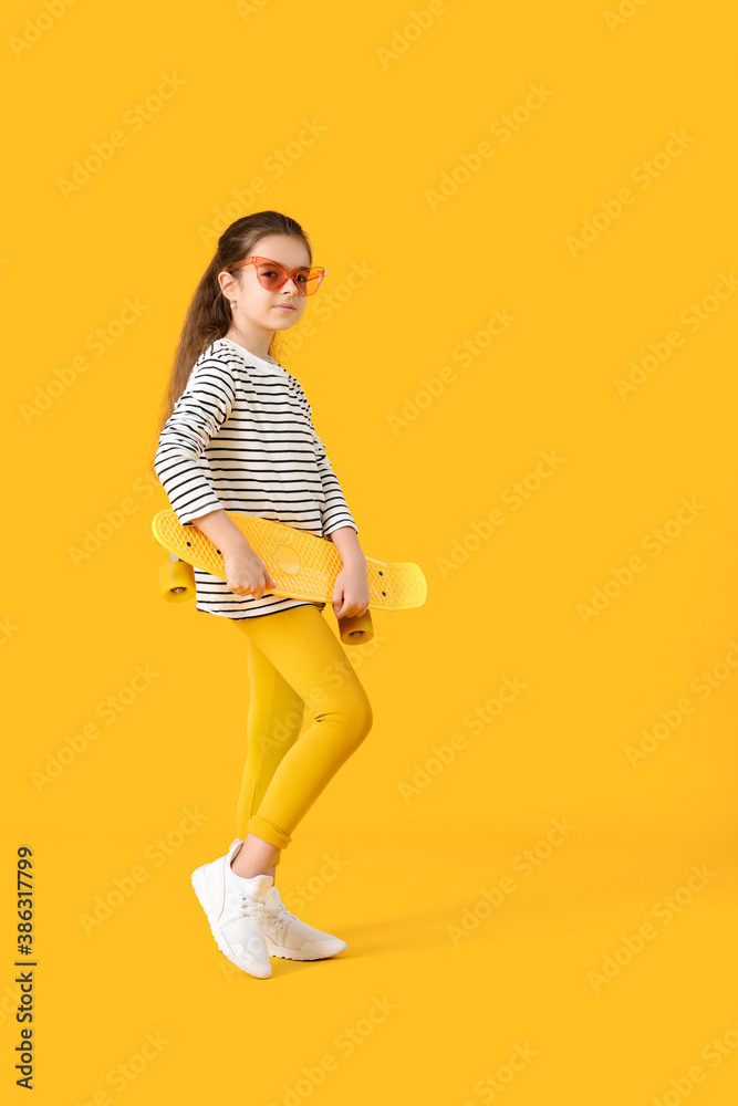
<path fill-rule="evenodd" d="M 187 311 L 154 459 L 179 522 L 224 555 L 226 580 L 195 570 L 197 611 L 228 619 L 248 646 L 237 836 L 191 879 L 220 951 L 260 979 L 271 975 L 270 956 L 316 960 L 347 947 L 290 914 L 276 866 L 373 721 L 325 604 L 271 593 L 267 566 L 226 514 L 330 539 L 343 562 L 332 595 L 336 618 L 367 609 L 358 529 L 301 385 L 270 355 L 277 332 L 302 319 L 324 275 L 288 216 L 259 211 L 228 227 Z M 310 724 L 299 735 L 305 706 Z"/>

